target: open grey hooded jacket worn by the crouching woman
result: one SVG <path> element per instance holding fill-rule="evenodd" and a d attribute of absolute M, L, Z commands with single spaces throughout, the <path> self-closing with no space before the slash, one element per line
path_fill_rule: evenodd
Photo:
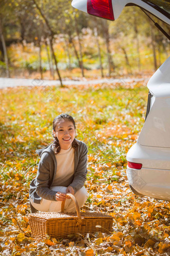
<path fill-rule="evenodd" d="M 68 180 L 67 184 L 58 184 L 58 186 L 68 187 L 71 186 L 76 193 L 86 180 L 87 174 L 87 146 L 85 143 L 75 139 L 78 142 L 78 147 L 74 150 L 74 176 Z M 29 199 L 31 198 L 34 203 L 40 203 L 44 198 L 50 201 L 56 201 L 55 194 L 57 191 L 50 190 L 53 179 L 56 174 L 56 157 L 51 148 L 52 144 L 44 149 L 36 150 L 39 155 L 40 161 L 35 179 L 30 183 Z M 37 210 L 30 203 L 31 213 Z"/>

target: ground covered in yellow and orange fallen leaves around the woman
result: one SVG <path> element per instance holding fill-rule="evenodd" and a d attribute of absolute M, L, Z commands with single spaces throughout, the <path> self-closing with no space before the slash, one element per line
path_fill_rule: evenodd
<path fill-rule="evenodd" d="M 0 255 L 170 255 L 169 202 L 135 196 L 125 172 L 147 92 L 146 82 L 0 91 Z M 88 146 L 89 197 L 81 210 L 109 214 L 113 226 L 106 233 L 36 241 L 27 218 L 35 150 L 50 144 L 52 120 L 62 112 L 74 117 L 77 138 Z"/>

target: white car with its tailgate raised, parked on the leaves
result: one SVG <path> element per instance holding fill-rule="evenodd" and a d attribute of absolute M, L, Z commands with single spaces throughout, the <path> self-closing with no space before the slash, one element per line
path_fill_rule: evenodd
<path fill-rule="evenodd" d="M 72 6 L 111 21 L 125 6 L 138 6 L 170 25 L 169 0 L 73 0 Z M 155 26 L 170 40 L 170 35 L 157 23 Z M 153 74 L 147 87 L 146 118 L 137 142 L 127 153 L 126 174 L 135 194 L 170 201 L 170 57 Z"/>

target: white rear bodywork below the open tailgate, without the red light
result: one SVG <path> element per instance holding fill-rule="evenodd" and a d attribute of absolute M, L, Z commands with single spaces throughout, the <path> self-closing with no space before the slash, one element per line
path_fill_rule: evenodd
<path fill-rule="evenodd" d="M 147 83 L 153 97 L 137 142 L 126 159 L 140 163 L 140 170 L 127 166 L 133 192 L 170 201 L 170 57 Z"/>

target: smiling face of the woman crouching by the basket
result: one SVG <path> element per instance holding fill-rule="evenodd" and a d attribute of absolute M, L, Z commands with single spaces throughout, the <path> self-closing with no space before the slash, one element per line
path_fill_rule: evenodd
<path fill-rule="evenodd" d="M 61 119 L 57 121 L 53 134 L 57 137 L 60 148 L 67 150 L 75 138 L 74 125 L 69 120 Z"/>

